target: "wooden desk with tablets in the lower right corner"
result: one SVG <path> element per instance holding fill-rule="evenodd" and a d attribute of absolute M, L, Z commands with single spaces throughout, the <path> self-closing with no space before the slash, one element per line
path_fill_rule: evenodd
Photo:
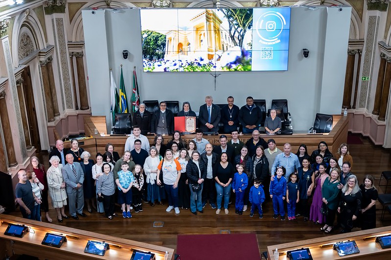
<path fill-rule="evenodd" d="M 379 227 L 369 230 L 356 231 L 351 233 L 339 234 L 334 236 L 322 236 L 317 239 L 302 240 L 285 244 L 268 246 L 268 259 L 274 260 L 273 251 L 278 249 L 279 259 L 286 260 L 287 251 L 300 248 L 309 248 L 314 260 L 332 260 L 332 259 L 390 259 L 391 248 L 382 249 L 379 243 L 375 242 L 377 236 L 388 235 L 391 233 L 391 226 Z M 333 250 L 333 244 L 339 241 L 355 240 L 360 253 L 340 257 L 336 250 Z M 323 245 L 323 248 L 321 246 Z"/>

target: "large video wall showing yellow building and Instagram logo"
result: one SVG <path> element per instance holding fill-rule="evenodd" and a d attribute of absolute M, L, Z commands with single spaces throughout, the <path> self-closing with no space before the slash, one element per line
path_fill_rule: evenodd
<path fill-rule="evenodd" d="M 284 71 L 291 9 L 141 9 L 145 72 Z"/>

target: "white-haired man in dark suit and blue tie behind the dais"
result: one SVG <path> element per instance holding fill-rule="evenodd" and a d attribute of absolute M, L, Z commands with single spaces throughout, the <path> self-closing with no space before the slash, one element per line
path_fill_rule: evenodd
<path fill-rule="evenodd" d="M 219 131 L 219 122 L 221 118 L 220 107 L 212 103 L 212 96 L 206 96 L 205 102 L 206 104 L 200 106 L 200 112 L 198 114 L 200 128 L 204 132 L 217 132 Z"/>

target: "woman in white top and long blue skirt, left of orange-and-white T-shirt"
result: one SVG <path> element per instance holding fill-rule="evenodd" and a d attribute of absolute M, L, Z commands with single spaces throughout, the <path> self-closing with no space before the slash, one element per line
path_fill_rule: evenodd
<path fill-rule="evenodd" d="M 149 156 L 147 159 L 145 159 L 144 163 L 144 173 L 146 174 L 147 178 L 146 181 L 148 183 L 147 187 L 147 194 L 148 194 L 148 201 L 151 201 L 151 206 L 155 206 L 155 200 L 158 200 L 159 203 L 162 205 L 163 203 L 161 202 L 161 194 L 160 190 L 161 188 L 158 186 L 156 183 L 156 178 L 157 178 L 157 172 L 158 172 L 158 165 L 159 162 L 161 161 L 162 157 L 159 155 L 159 151 L 155 146 L 152 146 L 151 149 L 149 150 Z M 165 195 L 164 188 L 162 190 L 162 194 Z"/>

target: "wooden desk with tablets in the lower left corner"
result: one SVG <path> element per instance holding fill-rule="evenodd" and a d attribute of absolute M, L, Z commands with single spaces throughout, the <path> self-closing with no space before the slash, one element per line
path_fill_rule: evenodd
<path fill-rule="evenodd" d="M 129 260 L 133 249 L 151 251 L 155 253 L 157 260 L 164 260 L 164 254 L 168 251 L 168 259 L 174 259 L 174 249 L 142 243 L 134 240 L 116 238 L 112 236 L 97 234 L 75 228 L 58 226 L 50 223 L 35 220 L 26 220 L 9 215 L 0 215 L 0 255 L 10 257 L 12 252 L 17 255 L 30 255 L 39 259 L 116 259 Z M 4 235 L 8 223 L 24 224 L 31 227 L 35 233 L 27 232 L 23 238 L 15 238 Z M 109 225 L 109 224 L 108 224 Z M 69 235 L 67 242 L 61 248 L 42 245 L 46 233 Z M 131 232 L 131 229 L 129 230 Z M 72 238 L 74 236 L 74 238 Z M 88 240 L 105 241 L 110 244 L 110 249 L 104 256 L 84 253 Z"/>

